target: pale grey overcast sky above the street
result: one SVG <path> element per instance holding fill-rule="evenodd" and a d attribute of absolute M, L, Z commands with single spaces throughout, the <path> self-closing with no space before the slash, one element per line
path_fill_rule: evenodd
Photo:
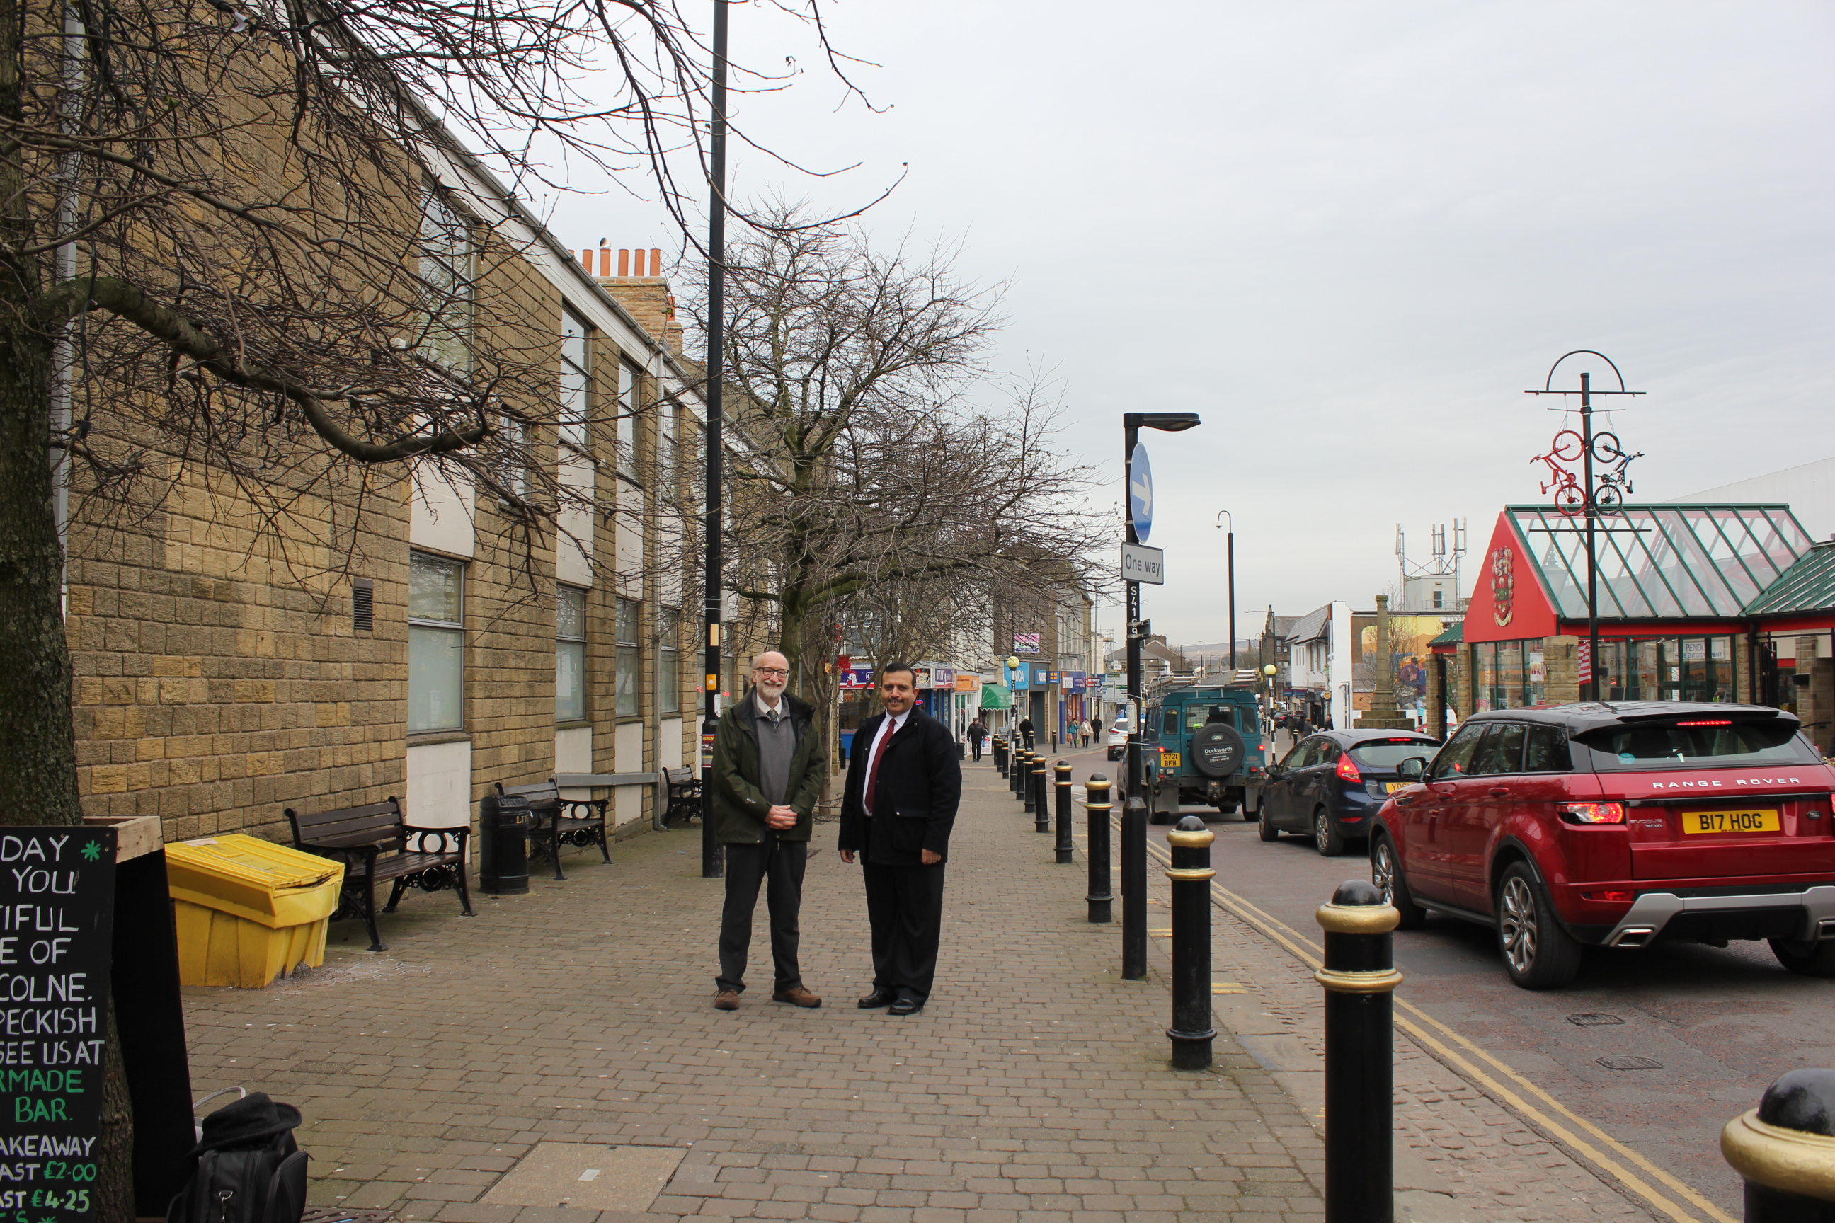
<path fill-rule="evenodd" d="M 829 0 L 868 114 L 806 40 L 732 7 L 732 57 L 796 53 L 738 121 L 822 182 L 738 156 L 734 194 L 824 205 L 905 185 L 866 226 L 960 242 L 1006 282 L 1004 370 L 1051 370 L 1066 446 L 1147 435 L 1156 633 L 1226 640 L 1218 510 L 1235 515 L 1239 634 L 1266 607 L 1369 607 L 1395 526 L 1426 554 L 1536 501 L 1571 348 L 1648 391 L 1618 420 L 1637 499 L 1835 455 L 1828 4 L 978 4 Z M 576 183 L 595 187 L 595 183 Z M 549 202 L 574 248 L 679 251 L 655 207 Z M 1609 378 L 1598 361 L 1569 363 Z M 1119 623 L 1103 609 L 1105 631 Z"/>

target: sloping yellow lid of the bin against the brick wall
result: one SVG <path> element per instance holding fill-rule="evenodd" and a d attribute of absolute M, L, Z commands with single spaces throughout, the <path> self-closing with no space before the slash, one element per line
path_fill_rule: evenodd
<path fill-rule="evenodd" d="M 167 887 L 262 926 L 301 926 L 338 908 L 343 864 L 244 832 L 200 836 L 165 847 Z"/>

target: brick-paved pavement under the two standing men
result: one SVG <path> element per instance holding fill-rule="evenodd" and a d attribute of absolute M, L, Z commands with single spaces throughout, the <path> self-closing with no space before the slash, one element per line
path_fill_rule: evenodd
<path fill-rule="evenodd" d="M 295 981 L 187 990 L 193 1084 L 297 1104 L 312 1199 L 407 1219 L 595 1223 L 479 1203 L 543 1139 L 686 1148 L 631 1217 L 1319 1217 L 1297 1106 L 1229 1036 L 1217 1071 L 1167 1069 L 1163 977 L 1118 979 L 1118 928 L 1084 922 L 1081 865 L 1053 867 L 1029 829 L 971 770 L 938 988 L 910 1019 L 853 1007 L 866 915 L 831 827 L 804 893 L 804 974 L 826 1005 L 767 1001 L 760 920 L 736 1014 L 710 1005 L 719 884 L 699 878 L 699 832 L 644 834 L 615 865 L 578 856 L 565 884 L 481 898 L 477 919 L 415 895 L 382 955 L 341 924 Z"/>

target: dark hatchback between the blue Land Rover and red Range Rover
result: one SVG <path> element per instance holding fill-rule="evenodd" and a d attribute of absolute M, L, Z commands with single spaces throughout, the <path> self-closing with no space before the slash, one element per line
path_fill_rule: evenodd
<path fill-rule="evenodd" d="M 1345 842 L 1363 840 L 1391 790 L 1404 785 L 1396 766 L 1426 759 L 1440 741 L 1407 730 L 1325 730 L 1307 735 L 1270 765 L 1255 818 L 1264 842 L 1305 832 L 1327 858 Z"/>

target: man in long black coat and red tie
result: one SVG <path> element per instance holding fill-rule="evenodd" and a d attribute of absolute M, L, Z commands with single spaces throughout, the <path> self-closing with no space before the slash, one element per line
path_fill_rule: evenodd
<path fill-rule="evenodd" d="M 943 933 L 943 864 L 962 801 L 949 728 L 912 708 L 918 678 L 903 662 L 879 671 L 886 708 L 853 732 L 840 799 L 840 860 L 861 858 L 873 928 L 873 990 L 862 1010 L 923 1010 Z"/>

